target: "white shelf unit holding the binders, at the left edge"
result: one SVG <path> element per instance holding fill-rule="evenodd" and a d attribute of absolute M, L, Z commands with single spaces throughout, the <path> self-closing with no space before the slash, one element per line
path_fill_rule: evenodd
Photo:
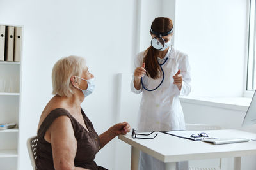
<path fill-rule="evenodd" d="M 19 169 L 21 68 L 22 61 L 0 61 L 0 124 L 8 122 L 17 124 L 16 128 L 0 130 L 1 170 Z"/>

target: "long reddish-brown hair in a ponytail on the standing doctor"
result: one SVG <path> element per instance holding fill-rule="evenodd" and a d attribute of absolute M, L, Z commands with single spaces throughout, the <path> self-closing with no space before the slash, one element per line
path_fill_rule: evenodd
<path fill-rule="evenodd" d="M 172 27 L 172 20 L 166 17 L 155 18 L 151 24 L 151 29 L 156 32 L 168 32 Z M 161 75 L 161 69 L 157 61 L 158 55 L 159 50 L 150 46 L 145 50 L 145 57 L 143 59 L 143 62 L 146 64 L 145 69 L 147 70 L 147 76 L 154 79 L 159 78 Z"/>

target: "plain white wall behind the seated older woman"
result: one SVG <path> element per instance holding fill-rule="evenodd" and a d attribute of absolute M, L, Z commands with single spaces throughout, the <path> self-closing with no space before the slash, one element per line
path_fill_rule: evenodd
<path fill-rule="evenodd" d="M 135 54 L 135 9 L 136 0 L 1 0 L 0 23 L 24 25 L 20 169 L 31 169 L 26 139 L 36 134 L 52 97 L 52 66 L 61 57 L 85 57 L 97 79 L 95 92 L 82 104 L 96 131 L 101 134 L 116 123 L 117 73 L 131 72 Z M 96 162 L 113 169 L 113 142 L 100 150 Z"/>

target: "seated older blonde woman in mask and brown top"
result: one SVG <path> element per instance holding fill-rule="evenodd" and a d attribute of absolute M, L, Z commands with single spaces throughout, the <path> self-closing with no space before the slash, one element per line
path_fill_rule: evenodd
<path fill-rule="evenodd" d="M 54 97 L 47 103 L 38 124 L 37 169 L 104 169 L 93 161 L 95 154 L 118 134 L 126 134 L 127 122 L 110 127 L 98 136 L 81 108 L 93 92 L 93 74 L 82 57 L 58 60 L 52 69 Z"/>

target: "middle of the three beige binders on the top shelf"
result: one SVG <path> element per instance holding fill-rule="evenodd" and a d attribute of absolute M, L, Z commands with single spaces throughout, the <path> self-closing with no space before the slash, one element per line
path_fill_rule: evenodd
<path fill-rule="evenodd" d="M 5 59 L 6 61 L 13 61 L 14 50 L 14 27 L 6 27 L 6 45 L 5 45 Z"/>

